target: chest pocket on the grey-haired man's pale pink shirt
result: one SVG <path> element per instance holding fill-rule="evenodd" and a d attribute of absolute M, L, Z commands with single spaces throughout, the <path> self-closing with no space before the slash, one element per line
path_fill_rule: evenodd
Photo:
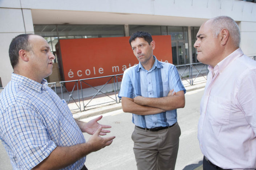
<path fill-rule="evenodd" d="M 206 111 L 206 117 L 212 125 L 229 124 L 231 101 L 222 97 L 210 96 Z"/>

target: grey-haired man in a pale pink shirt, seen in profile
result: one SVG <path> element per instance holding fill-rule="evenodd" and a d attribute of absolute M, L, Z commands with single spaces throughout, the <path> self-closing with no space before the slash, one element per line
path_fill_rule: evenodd
<path fill-rule="evenodd" d="M 256 61 L 239 44 L 239 28 L 227 16 L 197 33 L 197 59 L 210 71 L 198 123 L 204 170 L 256 169 Z"/>

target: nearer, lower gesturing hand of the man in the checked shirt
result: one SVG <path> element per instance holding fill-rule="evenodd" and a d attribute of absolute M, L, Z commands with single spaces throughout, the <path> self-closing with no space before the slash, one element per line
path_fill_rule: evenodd
<path fill-rule="evenodd" d="M 89 138 L 87 142 L 92 152 L 105 148 L 105 146 L 109 146 L 113 142 L 113 139 L 115 138 L 115 136 L 100 137 L 99 136 L 100 133 L 102 133 L 101 126 L 96 130 L 96 132 Z"/>

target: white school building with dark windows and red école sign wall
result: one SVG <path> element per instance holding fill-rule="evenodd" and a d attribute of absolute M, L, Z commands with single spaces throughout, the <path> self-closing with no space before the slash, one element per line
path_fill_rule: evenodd
<path fill-rule="evenodd" d="M 204 21 L 221 15 L 237 22 L 241 49 L 248 56 L 256 56 L 256 0 L 0 0 L 0 88 L 11 80 L 8 49 L 12 38 L 19 34 L 34 33 L 46 39 L 56 55 L 48 80 L 56 82 L 70 80 L 66 77 L 73 75 L 83 78 L 107 74 L 106 64 L 112 74 L 122 73 L 124 65 L 135 64 L 128 63 L 130 58 L 136 60 L 126 41 L 140 30 L 159 41 L 167 37 L 164 49 L 171 53 L 170 58 L 166 56 L 168 62 L 197 63 L 193 47 L 196 33 Z M 84 51 L 77 53 L 79 44 L 83 44 Z M 122 51 L 124 48 L 130 51 Z M 122 59 L 126 63 L 121 63 Z M 76 62 L 81 65 L 76 66 Z"/>

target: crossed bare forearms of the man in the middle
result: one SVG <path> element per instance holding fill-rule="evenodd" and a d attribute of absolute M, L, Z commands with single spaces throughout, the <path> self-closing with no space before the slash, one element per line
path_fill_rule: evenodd
<path fill-rule="evenodd" d="M 174 92 L 170 90 L 166 97 L 149 98 L 137 96 L 135 98 L 122 97 L 122 108 L 124 112 L 138 115 L 158 114 L 167 110 L 174 110 L 185 106 L 183 90 Z"/>

